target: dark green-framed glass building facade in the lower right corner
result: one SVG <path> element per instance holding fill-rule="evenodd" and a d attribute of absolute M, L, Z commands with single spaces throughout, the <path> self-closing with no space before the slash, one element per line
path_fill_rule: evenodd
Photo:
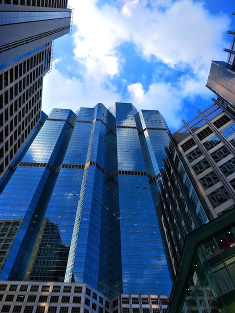
<path fill-rule="evenodd" d="M 167 313 L 235 310 L 234 209 L 187 235 Z"/>

